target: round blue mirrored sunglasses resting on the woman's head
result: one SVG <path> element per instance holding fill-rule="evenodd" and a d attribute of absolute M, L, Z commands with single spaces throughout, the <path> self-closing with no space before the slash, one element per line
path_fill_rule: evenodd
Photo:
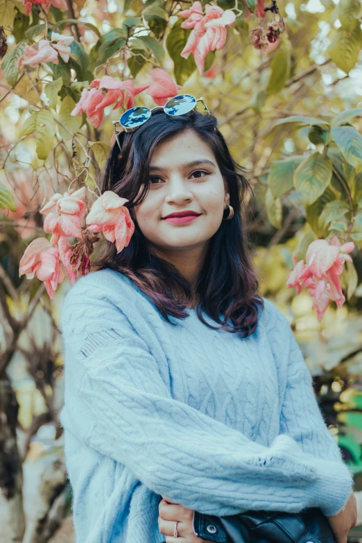
<path fill-rule="evenodd" d="M 121 115 L 119 121 L 113 121 L 117 143 L 119 144 L 119 130 L 117 125 L 120 124 L 125 132 L 135 132 L 137 128 L 150 119 L 152 112 L 155 110 L 164 110 L 169 117 L 178 117 L 179 115 L 186 115 L 198 111 L 198 102 L 201 102 L 205 107 L 207 114 L 210 114 L 209 108 L 204 102 L 204 98 L 195 98 L 195 96 L 191 96 L 191 94 L 179 94 L 178 96 L 170 98 L 165 105 L 157 105 L 152 109 L 145 105 L 131 107 Z M 119 147 L 121 148 L 120 144 Z"/>

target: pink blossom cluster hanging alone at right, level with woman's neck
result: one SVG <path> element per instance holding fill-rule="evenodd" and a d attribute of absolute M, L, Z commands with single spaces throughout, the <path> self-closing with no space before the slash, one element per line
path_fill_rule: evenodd
<path fill-rule="evenodd" d="M 339 276 L 343 273 L 345 261 L 352 262 L 348 253 L 353 250 L 352 241 L 341 245 L 338 237 L 333 236 L 330 243 L 326 239 L 313 241 L 307 250 L 306 262 L 293 257 L 295 267 L 286 278 L 286 286 L 295 286 L 298 294 L 306 289 L 319 322 L 329 302 L 336 302 L 338 309 L 345 302 Z"/>

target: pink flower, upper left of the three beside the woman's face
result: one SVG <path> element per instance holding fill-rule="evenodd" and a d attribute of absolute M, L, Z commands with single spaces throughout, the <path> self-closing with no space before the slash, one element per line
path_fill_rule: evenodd
<path fill-rule="evenodd" d="M 60 236 L 82 237 L 82 221 L 85 216 L 85 187 L 71 194 L 55 193 L 49 202 L 40 209 L 46 215 L 44 231 L 52 234 L 51 245 L 55 247 Z"/>

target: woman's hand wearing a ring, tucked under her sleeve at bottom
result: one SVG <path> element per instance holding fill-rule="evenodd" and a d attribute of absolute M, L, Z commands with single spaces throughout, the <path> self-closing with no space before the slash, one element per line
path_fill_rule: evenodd
<path fill-rule="evenodd" d="M 209 541 L 201 540 L 200 537 L 197 537 L 193 533 L 193 509 L 188 509 L 162 496 L 158 512 L 158 529 L 164 534 L 166 543 L 176 543 L 176 538 L 173 537 L 173 530 L 177 521 L 180 543 L 210 543 Z"/>

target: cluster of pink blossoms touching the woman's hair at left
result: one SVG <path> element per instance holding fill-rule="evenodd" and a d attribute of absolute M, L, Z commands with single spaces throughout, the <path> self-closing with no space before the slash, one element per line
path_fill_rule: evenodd
<path fill-rule="evenodd" d="M 78 273 L 89 273 L 89 257 L 99 239 L 98 232 L 103 232 L 105 239 L 115 242 L 117 252 L 120 252 L 130 243 L 135 231 L 135 223 L 125 207 L 126 198 L 120 198 L 113 191 L 105 191 L 86 215 L 85 197 L 85 187 L 72 193 L 53 194 L 40 209 L 40 213 L 46 215 L 44 231 L 51 234 L 50 241 L 44 237 L 33 240 L 21 257 L 19 275 L 43 281 L 50 298 L 55 297 L 56 288 L 66 274 L 74 284 Z M 76 238 L 77 243 L 69 245 L 69 237 Z"/>

